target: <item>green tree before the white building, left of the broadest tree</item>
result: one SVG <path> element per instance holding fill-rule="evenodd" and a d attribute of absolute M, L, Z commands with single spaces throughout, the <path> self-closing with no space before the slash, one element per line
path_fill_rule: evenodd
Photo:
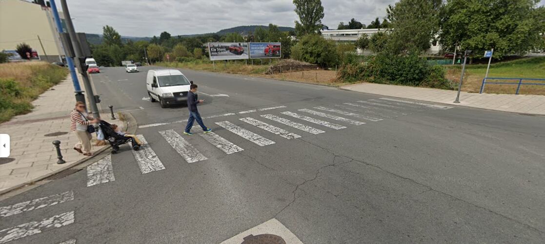
<path fill-rule="evenodd" d="M 431 40 L 439 31 L 441 3 L 442 0 L 400 0 L 388 7 L 392 54 L 421 53 L 429 49 Z"/>

